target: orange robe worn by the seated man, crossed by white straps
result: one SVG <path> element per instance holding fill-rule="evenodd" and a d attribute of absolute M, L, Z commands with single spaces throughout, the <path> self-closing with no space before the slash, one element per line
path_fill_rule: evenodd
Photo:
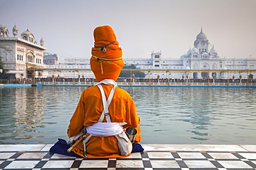
<path fill-rule="evenodd" d="M 102 84 L 105 95 L 108 98 L 113 85 Z M 87 87 L 82 92 L 80 101 L 75 109 L 68 126 L 68 136 L 74 136 L 84 126 L 91 126 L 98 123 L 103 111 L 102 97 L 97 86 Z M 112 123 L 127 123 L 126 127 L 135 127 L 138 131 L 134 142 L 140 142 L 140 118 L 136 114 L 136 106 L 131 96 L 120 87 L 116 87 L 115 93 L 109 105 L 109 114 Z M 104 118 L 103 122 L 107 122 Z M 89 136 L 89 134 L 86 134 Z M 80 156 L 83 155 L 82 142 L 73 149 Z M 118 142 L 115 136 L 99 137 L 91 136 L 86 143 L 86 156 L 88 158 L 120 158 Z"/>

